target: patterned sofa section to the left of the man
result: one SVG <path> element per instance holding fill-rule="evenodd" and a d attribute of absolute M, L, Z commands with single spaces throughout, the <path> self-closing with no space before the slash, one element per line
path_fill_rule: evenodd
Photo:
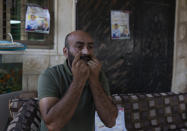
<path fill-rule="evenodd" d="M 21 103 L 24 101 L 23 105 L 20 107 Z M 40 127 L 40 111 L 38 109 L 37 99 L 21 99 L 12 101 L 10 109 L 13 105 L 14 107 L 20 107 L 18 112 L 14 115 L 14 119 L 10 122 L 7 131 L 38 131 Z M 17 104 L 16 104 L 16 103 Z M 21 103 L 19 103 L 21 102 Z M 16 108 L 16 109 L 18 109 Z"/>

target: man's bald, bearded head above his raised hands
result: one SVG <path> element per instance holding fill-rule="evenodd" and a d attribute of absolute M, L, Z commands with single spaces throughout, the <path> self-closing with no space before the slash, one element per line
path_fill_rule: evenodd
<path fill-rule="evenodd" d="M 93 44 L 92 37 L 84 31 L 77 30 L 69 33 L 65 38 L 63 52 L 70 66 L 78 53 L 81 53 L 81 56 L 91 57 L 93 55 Z"/>

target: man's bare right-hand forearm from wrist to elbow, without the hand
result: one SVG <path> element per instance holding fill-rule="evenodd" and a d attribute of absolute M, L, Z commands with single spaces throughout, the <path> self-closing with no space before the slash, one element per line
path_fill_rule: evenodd
<path fill-rule="evenodd" d="M 90 88 L 99 117 L 106 126 L 113 127 L 118 114 L 116 106 L 107 96 L 99 81 L 90 81 Z"/>

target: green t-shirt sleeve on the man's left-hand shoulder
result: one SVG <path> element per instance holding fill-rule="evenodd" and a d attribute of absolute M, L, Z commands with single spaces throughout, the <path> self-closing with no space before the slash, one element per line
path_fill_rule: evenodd
<path fill-rule="evenodd" d="M 38 98 L 42 99 L 45 97 L 59 98 L 57 84 L 50 68 L 42 72 L 38 79 Z"/>

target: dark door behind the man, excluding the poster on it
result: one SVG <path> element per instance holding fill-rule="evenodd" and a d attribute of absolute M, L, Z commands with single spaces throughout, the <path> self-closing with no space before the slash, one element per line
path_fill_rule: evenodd
<path fill-rule="evenodd" d="M 130 11 L 131 38 L 112 40 L 110 11 Z M 112 93 L 170 91 L 175 0 L 78 0 L 76 28 L 95 40 Z"/>

